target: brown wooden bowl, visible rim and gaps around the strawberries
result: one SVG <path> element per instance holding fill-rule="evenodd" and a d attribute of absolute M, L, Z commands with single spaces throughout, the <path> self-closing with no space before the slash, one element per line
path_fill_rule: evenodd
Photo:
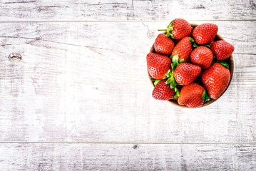
<path fill-rule="evenodd" d="M 198 24 L 190 24 L 190 25 L 191 25 L 193 28 L 195 28 L 196 26 L 198 26 Z M 166 33 L 166 31 L 165 31 L 164 33 Z M 222 38 L 222 36 L 220 36 L 219 34 L 217 34 L 217 35 L 215 36 L 215 38 L 214 38 L 214 41 L 220 41 L 220 40 L 224 41 L 224 38 Z M 155 48 L 154 48 L 154 44 L 153 44 L 153 46 L 151 47 L 149 53 L 156 53 L 156 52 L 155 52 Z M 230 65 L 230 82 L 231 82 L 232 76 L 233 76 L 233 71 L 234 71 L 233 56 L 231 55 L 230 58 L 227 58 L 227 59 L 225 60 L 225 62 L 228 63 L 228 65 Z M 148 73 L 148 77 L 149 77 L 149 79 L 150 79 L 150 82 L 151 82 L 152 85 L 154 86 L 154 83 L 153 83 L 153 81 L 151 80 L 149 73 Z M 228 88 L 229 86 L 230 86 L 230 83 L 228 83 L 227 88 Z M 154 86 L 154 87 L 155 87 L 155 86 Z M 226 89 L 224 90 L 224 92 L 220 95 L 220 97 L 225 93 L 225 91 L 227 90 L 227 88 L 226 88 Z M 220 97 L 219 97 L 219 98 L 220 98 Z M 219 98 L 217 98 L 217 99 L 219 99 Z M 206 106 L 206 105 L 210 105 L 210 103 L 215 102 L 217 99 L 215 99 L 215 100 L 211 99 L 211 100 L 209 100 L 208 102 L 203 103 L 203 105 L 201 105 L 201 106 L 198 107 L 198 108 L 202 108 L 202 107 L 204 107 L 204 106 Z M 177 106 L 179 106 L 180 108 L 188 108 L 188 107 L 185 106 L 185 105 L 179 105 L 178 102 L 175 101 L 175 100 L 167 100 L 167 101 L 168 101 L 168 103 L 171 103 L 171 104 L 173 104 L 173 105 L 177 105 Z"/>

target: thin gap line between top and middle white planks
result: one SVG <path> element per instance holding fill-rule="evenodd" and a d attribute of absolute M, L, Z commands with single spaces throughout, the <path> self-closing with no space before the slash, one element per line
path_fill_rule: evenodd
<path fill-rule="evenodd" d="M 1 21 L 0 23 L 118 23 L 118 22 L 162 22 L 166 21 L 169 22 L 170 20 L 102 20 L 102 21 L 93 21 L 93 20 L 63 20 L 63 21 L 47 21 L 47 20 L 41 20 L 41 21 L 36 21 L 36 20 L 25 20 L 25 21 Z M 256 21 L 256 19 L 244 19 L 244 20 L 188 20 L 189 22 L 193 21 Z"/>

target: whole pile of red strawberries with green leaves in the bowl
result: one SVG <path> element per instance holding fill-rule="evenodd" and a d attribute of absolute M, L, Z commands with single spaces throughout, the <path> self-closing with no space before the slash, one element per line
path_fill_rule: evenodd
<path fill-rule="evenodd" d="M 214 41 L 217 29 L 209 23 L 193 29 L 184 19 L 170 22 L 166 33 L 155 39 L 156 53 L 147 55 L 148 73 L 155 84 L 153 98 L 197 108 L 220 97 L 230 83 L 225 61 L 234 46 Z"/>

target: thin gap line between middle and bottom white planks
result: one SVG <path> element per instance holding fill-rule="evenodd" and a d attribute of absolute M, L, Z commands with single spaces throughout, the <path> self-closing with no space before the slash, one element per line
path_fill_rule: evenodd
<path fill-rule="evenodd" d="M 158 144 L 158 145 L 195 145 L 195 144 L 227 144 L 227 145 L 256 145 L 256 142 L 35 142 L 35 141 L 0 141 L 0 143 L 24 143 L 24 144 Z"/>

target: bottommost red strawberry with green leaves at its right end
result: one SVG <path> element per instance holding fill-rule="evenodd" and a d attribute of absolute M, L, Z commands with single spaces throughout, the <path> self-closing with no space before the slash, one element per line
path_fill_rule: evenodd
<path fill-rule="evenodd" d="M 178 103 L 180 105 L 187 105 L 189 108 L 197 108 L 203 105 L 203 92 L 205 88 L 198 83 L 191 83 L 190 85 L 183 86 L 180 90 L 180 97 Z"/>

